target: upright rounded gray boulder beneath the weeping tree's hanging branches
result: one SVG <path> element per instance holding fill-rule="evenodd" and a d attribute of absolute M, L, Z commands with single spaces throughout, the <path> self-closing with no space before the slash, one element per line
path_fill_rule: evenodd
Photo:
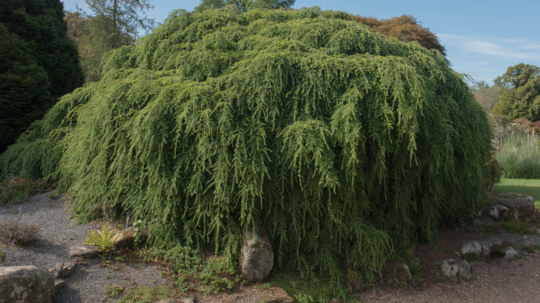
<path fill-rule="evenodd" d="M 242 275 L 250 282 L 262 282 L 273 266 L 273 250 L 270 242 L 260 235 L 248 232 L 244 237 L 240 255 Z"/>

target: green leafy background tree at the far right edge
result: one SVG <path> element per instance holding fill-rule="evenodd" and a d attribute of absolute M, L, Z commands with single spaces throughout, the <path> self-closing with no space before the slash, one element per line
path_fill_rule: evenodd
<path fill-rule="evenodd" d="M 500 101 L 492 112 L 510 120 L 540 120 L 540 68 L 529 64 L 510 66 L 494 83 L 501 89 Z"/>

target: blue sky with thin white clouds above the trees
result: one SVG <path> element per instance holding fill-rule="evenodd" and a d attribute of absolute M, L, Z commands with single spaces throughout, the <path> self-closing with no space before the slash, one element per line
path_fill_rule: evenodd
<path fill-rule="evenodd" d="M 66 10 L 84 7 L 84 0 L 64 0 Z M 163 23 L 172 10 L 193 10 L 199 0 L 150 0 L 148 17 Z M 294 8 L 320 6 L 352 15 L 390 19 L 412 15 L 435 33 L 447 48 L 452 68 L 474 80 L 492 83 L 509 66 L 540 66 L 539 0 L 297 0 Z"/>

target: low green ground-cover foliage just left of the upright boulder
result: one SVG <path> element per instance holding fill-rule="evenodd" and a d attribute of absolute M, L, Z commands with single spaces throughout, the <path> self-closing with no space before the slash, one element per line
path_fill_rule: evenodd
<path fill-rule="evenodd" d="M 240 284 L 231 259 L 225 257 L 202 257 L 199 250 L 179 245 L 168 249 L 153 248 L 148 255 L 159 259 L 183 279 L 197 279 L 208 292 L 234 291 Z"/>

